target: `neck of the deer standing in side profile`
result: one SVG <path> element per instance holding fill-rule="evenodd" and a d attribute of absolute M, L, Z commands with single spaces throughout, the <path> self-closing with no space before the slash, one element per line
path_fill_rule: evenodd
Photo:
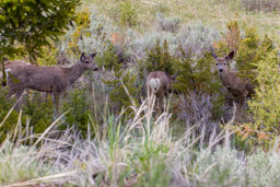
<path fill-rule="evenodd" d="M 70 84 L 77 81 L 85 71 L 82 65 L 79 62 L 73 65 L 70 68 L 61 68 L 65 71 L 67 80 L 69 80 Z"/>

